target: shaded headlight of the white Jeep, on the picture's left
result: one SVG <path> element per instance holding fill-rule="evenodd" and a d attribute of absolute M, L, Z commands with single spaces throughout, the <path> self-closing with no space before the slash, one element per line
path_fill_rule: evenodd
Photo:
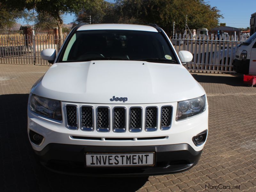
<path fill-rule="evenodd" d="M 61 103 L 59 100 L 31 95 L 30 109 L 35 113 L 56 120 L 62 120 Z"/>

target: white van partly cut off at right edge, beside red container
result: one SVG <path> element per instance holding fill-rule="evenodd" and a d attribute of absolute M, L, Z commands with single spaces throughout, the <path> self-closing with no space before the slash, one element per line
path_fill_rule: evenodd
<path fill-rule="evenodd" d="M 256 75 L 256 33 L 238 45 L 234 60 L 234 71 Z"/>

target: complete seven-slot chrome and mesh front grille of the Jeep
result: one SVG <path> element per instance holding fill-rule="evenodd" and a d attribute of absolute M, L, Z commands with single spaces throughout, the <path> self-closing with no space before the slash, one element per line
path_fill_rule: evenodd
<path fill-rule="evenodd" d="M 79 127 L 82 131 L 88 132 L 110 132 L 110 128 L 115 133 L 127 132 L 127 129 L 129 132 L 141 132 L 143 125 L 145 132 L 154 132 L 158 128 L 161 131 L 171 128 L 172 110 L 171 105 L 145 108 L 118 106 L 111 108 L 110 112 L 108 106 L 82 105 L 78 110 L 77 105 L 67 104 L 66 119 L 67 127 L 71 130 L 77 130 Z"/>

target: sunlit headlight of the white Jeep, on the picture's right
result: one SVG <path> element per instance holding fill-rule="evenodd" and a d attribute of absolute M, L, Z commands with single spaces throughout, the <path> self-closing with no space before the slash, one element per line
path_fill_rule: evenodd
<path fill-rule="evenodd" d="M 177 106 L 176 121 L 190 118 L 202 113 L 206 109 L 205 95 L 195 99 L 179 101 Z"/>

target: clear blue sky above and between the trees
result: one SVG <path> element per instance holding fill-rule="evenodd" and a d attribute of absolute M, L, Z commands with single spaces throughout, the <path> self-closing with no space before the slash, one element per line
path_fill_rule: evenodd
<path fill-rule="evenodd" d="M 114 2 L 114 0 L 108 0 Z M 256 0 L 204 0 L 212 7 L 216 6 L 224 17 L 220 23 L 226 23 L 226 26 L 236 28 L 250 27 L 251 14 L 256 12 Z M 74 14 L 64 15 L 63 21 L 68 24 L 73 22 Z M 18 23 L 26 24 L 22 20 Z"/>

